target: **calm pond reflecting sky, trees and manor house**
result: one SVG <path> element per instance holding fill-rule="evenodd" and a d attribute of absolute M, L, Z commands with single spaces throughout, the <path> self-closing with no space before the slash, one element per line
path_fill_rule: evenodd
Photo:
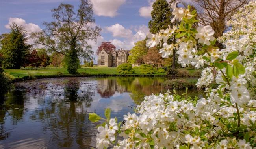
<path fill-rule="evenodd" d="M 95 112 L 122 120 L 145 95 L 164 92 L 163 77 L 48 78 L 15 83 L 0 99 L 0 148 L 83 148 L 96 146 Z M 189 91 L 191 96 L 202 92 Z"/>

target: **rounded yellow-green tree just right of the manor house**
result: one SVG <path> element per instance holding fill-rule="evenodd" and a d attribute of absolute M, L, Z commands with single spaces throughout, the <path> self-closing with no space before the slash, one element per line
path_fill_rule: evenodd
<path fill-rule="evenodd" d="M 128 62 L 130 64 L 144 64 L 143 56 L 148 52 L 148 47 L 146 46 L 146 40 L 141 40 L 135 43 L 135 46 L 132 47 L 130 55 L 128 57 Z"/>

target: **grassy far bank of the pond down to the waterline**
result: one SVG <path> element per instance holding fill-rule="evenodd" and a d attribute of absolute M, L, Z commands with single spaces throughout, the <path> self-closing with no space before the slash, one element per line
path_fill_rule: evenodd
<path fill-rule="evenodd" d="M 69 74 L 62 67 L 46 68 L 24 68 L 24 69 L 6 69 L 5 72 L 13 82 L 34 80 L 41 78 L 60 78 L 60 77 L 88 77 L 88 76 L 137 76 L 137 77 L 154 77 L 166 76 L 165 73 L 141 74 L 136 71 L 134 74 L 119 74 L 116 68 L 112 67 L 86 67 L 78 69 L 76 75 Z"/>

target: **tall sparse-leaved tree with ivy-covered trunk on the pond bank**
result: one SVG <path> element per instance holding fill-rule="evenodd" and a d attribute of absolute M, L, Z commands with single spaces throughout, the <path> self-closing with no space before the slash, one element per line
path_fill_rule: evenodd
<path fill-rule="evenodd" d="M 80 56 L 91 59 L 93 51 L 88 40 L 96 40 L 101 30 L 95 26 L 90 0 L 80 2 L 76 13 L 73 5 L 61 3 L 52 9 L 54 21 L 44 22 L 45 29 L 32 34 L 35 43 L 65 55 L 67 70 L 71 74 L 77 72 Z"/>

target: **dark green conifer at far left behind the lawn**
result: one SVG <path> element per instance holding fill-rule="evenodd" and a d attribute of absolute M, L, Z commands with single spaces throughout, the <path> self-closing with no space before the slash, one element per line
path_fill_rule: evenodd
<path fill-rule="evenodd" d="M 11 24 L 11 32 L 1 35 L 1 50 L 6 69 L 20 69 L 25 64 L 26 55 L 31 45 L 26 44 L 26 32 L 22 26 Z"/>

